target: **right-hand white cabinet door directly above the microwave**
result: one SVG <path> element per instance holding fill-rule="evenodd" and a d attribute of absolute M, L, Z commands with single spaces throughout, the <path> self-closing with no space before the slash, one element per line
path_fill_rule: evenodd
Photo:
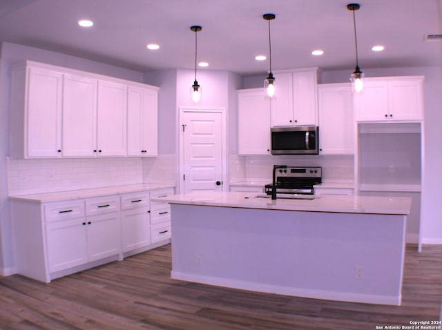
<path fill-rule="evenodd" d="M 316 83 L 316 70 L 294 72 L 293 105 L 295 125 L 317 125 Z"/>

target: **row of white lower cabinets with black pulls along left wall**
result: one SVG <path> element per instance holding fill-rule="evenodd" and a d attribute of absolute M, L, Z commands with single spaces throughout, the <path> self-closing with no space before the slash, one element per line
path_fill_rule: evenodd
<path fill-rule="evenodd" d="M 10 202 L 17 273 L 35 280 L 76 273 L 170 242 L 173 188 L 78 200 Z"/>

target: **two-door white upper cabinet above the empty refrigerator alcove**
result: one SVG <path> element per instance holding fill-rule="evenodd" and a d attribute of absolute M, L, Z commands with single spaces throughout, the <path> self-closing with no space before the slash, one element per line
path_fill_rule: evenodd
<path fill-rule="evenodd" d="M 358 122 L 423 120 L 423 77 L 366 78 L 364 91 L 354 95 Z"/>

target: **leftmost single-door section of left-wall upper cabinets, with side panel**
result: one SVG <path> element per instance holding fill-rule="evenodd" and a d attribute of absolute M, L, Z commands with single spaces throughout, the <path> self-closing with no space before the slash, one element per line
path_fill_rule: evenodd
<path fill-rule="evenodd" d="M 63 74 L 44 68 L 12 71 L 11 157 L 61 156 Z"/>

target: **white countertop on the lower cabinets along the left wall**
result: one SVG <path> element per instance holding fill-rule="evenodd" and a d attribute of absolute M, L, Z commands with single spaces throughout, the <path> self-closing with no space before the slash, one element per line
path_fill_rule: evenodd
<path fill-rule="evenodd" d="M 103 188 L 80 189 L 75 191 L 59 191 L 55 193 L 38 193 L 32 195 L 9 196 L 12 200 L 26 200 L 31 202 L 59 202 L 64 200 L 80 200 L 106 195 L 136 193 L 137 191 L 151 191 L 161 188 L 174 188 L 171 184 L 126 184 L 124 186 L 110 186 Z"/>

